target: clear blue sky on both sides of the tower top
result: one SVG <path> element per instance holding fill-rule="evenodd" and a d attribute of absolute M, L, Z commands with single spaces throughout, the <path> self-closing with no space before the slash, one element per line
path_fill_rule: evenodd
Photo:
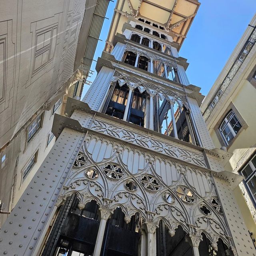
<path fill-rule="evenodd" d="M 156 0 L 157 2 L 157 0 Z M 200 8 L 187 38 L 180 49 L 180 56 L 188 59 L 186 70 L 191 84 L 201 87 L 206 95 L 218 77 L 228 57 L 234 50 L 250 20 L 256 12 L 256 0 L 201 0 Z M 110 2 L 94 60 L 101 56 L 108 36 L 116 0 Z M 92 62 L 91 70 L 95 70 Z M 93 82 L 96 77 L 89 78 Z M 84 86 L 82 98 L 89 86 Z"/>

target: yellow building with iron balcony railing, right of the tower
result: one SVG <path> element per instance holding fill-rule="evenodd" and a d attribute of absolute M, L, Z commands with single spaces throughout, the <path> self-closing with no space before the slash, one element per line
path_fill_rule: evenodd
<path fill-rule="evenodd" d="M 200 107 L 216 148 L 226 147 L 233 154 L 224 168 L 244 176 L 234 195 L 253 239 L 256 239 L 255 26 L 256 16 Z"/>

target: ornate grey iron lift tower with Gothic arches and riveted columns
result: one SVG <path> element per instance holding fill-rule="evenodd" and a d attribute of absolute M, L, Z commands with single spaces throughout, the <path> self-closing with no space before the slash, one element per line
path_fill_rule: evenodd
<path fill-rule="evenodd" d="M 98 75 L 0 230 L 0 255 L 256 255 L 178 55 L 200 3 L 117 1 Z M 177 20 L 177 16 L 178 18 Z M 169 127 L 168 127 L 169 126 Z"/>

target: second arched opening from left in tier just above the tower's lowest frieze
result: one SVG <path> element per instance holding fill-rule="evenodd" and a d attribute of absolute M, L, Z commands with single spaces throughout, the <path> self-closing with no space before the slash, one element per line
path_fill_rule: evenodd
<path fill-rule="evenodd" d="M 140 93 L 136 88 L 133 92 L 131 108 L 129 114 L 129 122 L 137 124 L 139 126 L 144 126 L 144 116 L 145 116 L 145 106 L 146 106 L 146 92 Z"/>

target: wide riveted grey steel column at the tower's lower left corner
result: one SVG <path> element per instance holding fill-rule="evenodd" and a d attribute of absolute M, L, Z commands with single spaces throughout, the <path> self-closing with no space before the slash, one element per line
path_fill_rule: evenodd
<path fill-rule="evenodd" d="M 0 230 L 0 255 L 36 255 L 85 134 L 64 128 Z M 68 146 L 67 146 L 68 145 Z"/>

